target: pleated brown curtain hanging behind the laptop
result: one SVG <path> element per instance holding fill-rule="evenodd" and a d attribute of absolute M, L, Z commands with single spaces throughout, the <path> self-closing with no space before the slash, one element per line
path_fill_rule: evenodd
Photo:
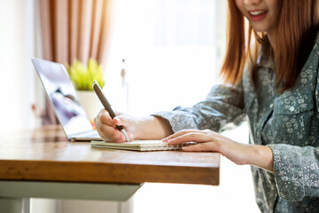
<path fill-rule="evenodd" d="M 115 0 L 40 0 L 43 59 L 106 66 L 113 35 Z M 48 100 L 46 100 L 48 102 Z M 57 123 L 46 103 L 43 124 Z"/>

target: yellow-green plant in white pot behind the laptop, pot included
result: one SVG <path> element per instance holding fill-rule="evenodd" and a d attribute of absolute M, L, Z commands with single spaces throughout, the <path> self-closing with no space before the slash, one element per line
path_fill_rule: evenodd
<path fill-rule="evenodd" d="M 74 83 L 77 98 L 84 107 L 89 120 L 93 122 L 94 117 L 103 107 L 92 89 L 94 81 L 97 81 L 101 88 L 105 85 L 102 66 L 95 59 L 89 59 L 88 66 L 83 65 L 81 61 L 75 59 L 72 65 L 67 66 L 67 72 Z"/>

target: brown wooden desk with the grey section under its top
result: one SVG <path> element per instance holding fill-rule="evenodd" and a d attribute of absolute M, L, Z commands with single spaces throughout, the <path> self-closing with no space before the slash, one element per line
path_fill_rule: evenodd
<path fill-rule="evenodd" d="M 144 182 L 219 184 L 220 154 L 90 147 L 68 142 L 57 126 L 0 138 L 0 197 L 124 201 Z"/>

